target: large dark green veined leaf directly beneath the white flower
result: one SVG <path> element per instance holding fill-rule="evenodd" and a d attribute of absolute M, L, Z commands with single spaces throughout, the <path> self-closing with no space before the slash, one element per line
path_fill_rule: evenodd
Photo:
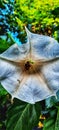
<path fill-rule="evenodd" d="M 16 100 L 8 110 L 7 130 L 32 130 L 37 126 L 40 104 L 31 105 Z"/>

